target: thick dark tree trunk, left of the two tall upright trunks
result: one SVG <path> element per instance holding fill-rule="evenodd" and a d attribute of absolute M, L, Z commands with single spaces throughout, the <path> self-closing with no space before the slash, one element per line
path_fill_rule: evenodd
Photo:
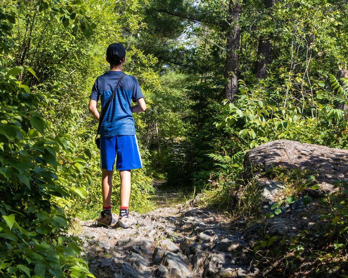
<path fill-rule="evenodd" d="M 233 101 L 238 92 L 238 49 L 239 49 L 239 15 L 242 11 L 239 0 L 230 0 L 229 19 L 227 31 L 227 47 L 226 47 L 226 67 L 225 78 L 225 98 Z"/>

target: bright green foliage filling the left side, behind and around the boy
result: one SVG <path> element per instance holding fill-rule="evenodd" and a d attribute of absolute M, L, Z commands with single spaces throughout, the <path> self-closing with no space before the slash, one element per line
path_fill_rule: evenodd
<path fill-rule="evenodd" d="M 68 235 L 72 216 L 90 212 L 90 218 L 101 207 L 96 122 L 87 97 L 107 68 L 106 46 L 144 27 L 143 4 L 0 3 L 1 276 L 93 277 L 78 238 Z M 139 76 L 148 95 L 159 84 L 151 70 L 156 59 L 134 47 L 127 54 L 125 70 Z M 141 128 L 142 117 L 136 121 Z M 152 208 L 146 149 L 142 156 L 130 197 L 139 212 Z M 118 177 L 115 182 L 117 189 Z M 119 198 L 112 203 L 117 207 Z"/>

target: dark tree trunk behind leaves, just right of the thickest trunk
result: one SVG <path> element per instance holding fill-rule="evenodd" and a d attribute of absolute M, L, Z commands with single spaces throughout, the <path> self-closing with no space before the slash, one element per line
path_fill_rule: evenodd
<path fill-rule="evenodd" d="M 267 9 L 270 9 L 274 6 L 276 0 L 264 0 L 264 5 Z M 255 71 L 256 78 L 265 79 L 267 77 L 267 67 L 266 65 L 270 63 L 271 58 L 271 43 L 273 34 L 268 34 L 266 38 L 260 36 L 259 46 L 258 46 L 258 60 L 256 61 Z"/>

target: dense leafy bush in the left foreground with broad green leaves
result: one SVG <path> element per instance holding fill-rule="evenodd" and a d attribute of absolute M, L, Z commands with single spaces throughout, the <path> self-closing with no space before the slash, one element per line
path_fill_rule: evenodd
<path fill-rule="evenodd" d="M 3 277 L 93 277 L 79 257 L 76 237 L 67 236 L 62 209 L 91 185 L 87 159 L 65 136 L 47 136 L 50 122 L 35 111 L 49 95 L 31 92 L 14 67 L 0 81 L 0 273 Z M 71 184 L 70 181 L 75 183 Z"/>

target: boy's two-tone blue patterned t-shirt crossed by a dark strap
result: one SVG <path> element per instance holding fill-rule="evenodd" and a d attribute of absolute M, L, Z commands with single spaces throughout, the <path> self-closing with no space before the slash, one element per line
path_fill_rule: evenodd
<path fill-rule="evenodd" d="M 95 80 L 89 98 L 96 101 L 100 98 L 102 111 L 122 74 L 124 72 L 108 71 Z M 101 123 L 100 137 L 135 135 L 130 100 L 136 102 L 142 97 L 143 94 L 135 77 L 131 75 L 123 77 Z"/>

